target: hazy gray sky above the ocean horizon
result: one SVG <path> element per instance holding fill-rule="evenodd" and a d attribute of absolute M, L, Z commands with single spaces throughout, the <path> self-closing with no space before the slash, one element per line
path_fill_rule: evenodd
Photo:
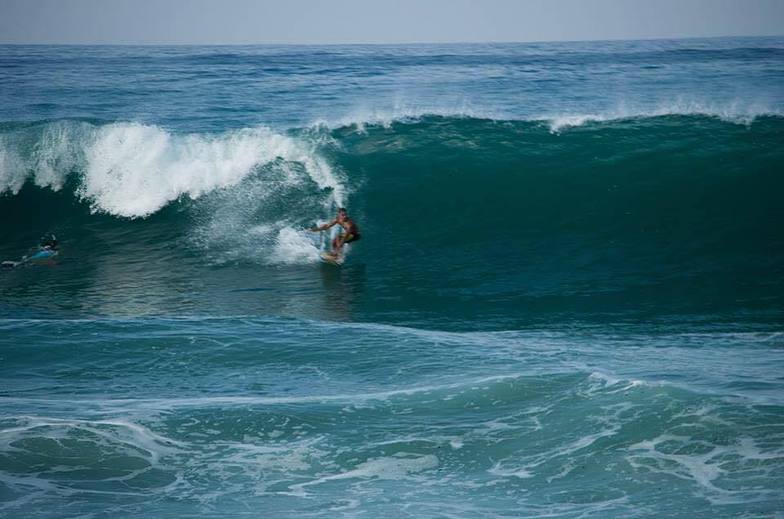
<path fill-rule="evenodd" d="M 0 0 L 2 43 L 399 43 L 784 34 L 784 0 Z"/>

